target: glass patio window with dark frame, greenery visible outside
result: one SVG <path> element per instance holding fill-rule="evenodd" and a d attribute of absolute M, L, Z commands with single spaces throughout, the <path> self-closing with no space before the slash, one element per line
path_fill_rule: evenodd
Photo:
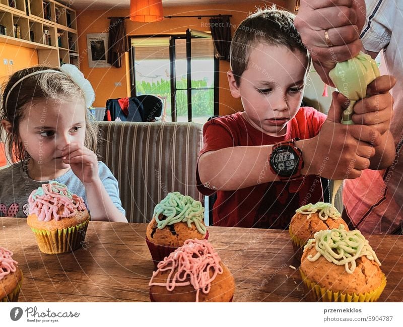
<path fill-rule="evenodd" d="M 166 121 L 204 123 L 218 115 L 218 59 L 211 35 L 131 38 L 132 95 L 153 94 Z"/>

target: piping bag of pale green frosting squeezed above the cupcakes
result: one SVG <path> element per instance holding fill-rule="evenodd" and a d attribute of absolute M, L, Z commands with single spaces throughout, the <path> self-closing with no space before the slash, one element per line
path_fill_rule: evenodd
<path fill-rule="evenodd" d="M 334 83 L 334 86 L 350 100 L 349 106 L 343 112 L 342 124 L 354 124 L 352 120 L 354 104 L 358 100 L 365 98 L 368 84 L 379 76 L 380 73 L 375 60 L 363 52 L 360 52 L 354 58 L 338 62 L 329 72 L 329 78 Z M 333 206 L 335 195 L 342 183 L 343 180 L 333 181 L 331 197 L 331 204 Z"/>

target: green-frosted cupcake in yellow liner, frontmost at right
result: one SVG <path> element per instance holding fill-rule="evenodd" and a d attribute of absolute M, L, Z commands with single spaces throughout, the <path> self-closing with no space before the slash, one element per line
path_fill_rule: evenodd
<path fill-rule="evenodd" d="M 300 273 L 308 299 L 373 302 L 386 286 L 374 250 L 359 230 L 322 230 L 304 248 Z"/>

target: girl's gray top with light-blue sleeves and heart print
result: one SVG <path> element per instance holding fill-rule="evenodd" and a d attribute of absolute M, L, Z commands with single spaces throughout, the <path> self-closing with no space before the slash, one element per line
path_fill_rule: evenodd
<path fill-rule="evenodd" d="M 100 161 L 98 162 L 98 175 L 116 208 L 125 215 L 119 198 L 117 180 L 109 168 Z M 88 208 L 84 185 L 73 173 L 73 170 L 70 169 L 52 180 L 66 185 L 69 191 L 82 197 Z M 0 169 L 0 217 L 27 217 L 29 194 L 47 182 L 31 179 L 21 165 L 14 164 Z"/>

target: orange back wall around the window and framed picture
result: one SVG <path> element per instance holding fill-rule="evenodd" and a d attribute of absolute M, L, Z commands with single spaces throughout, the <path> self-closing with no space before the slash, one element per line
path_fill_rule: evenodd
<path fill-rule="evenodd" d="M 287 8 L 290 1 L 276 1 L 276 4 Z M 256 6 L 264 6 L 263 2 L 246 4 L 222 4 L 211 6 L 181 6 L 165 7 L 165 16 L 188 16 L 188 15 L 232 15 L 230 21 L 233 24 L 233 32 L 236 26 L 246 18 L 249 12 L 253 12 Z M 289 8 L 291 9 L 291 8 Z M 128 60 L 123 60 L 121 68 L 89 68 L 87 52 L 87 33 L 107 32 L 110 16 L 128 16 L 128 9 L 110 11 L 83 11 L 77 13 L 79 49 L 80 49 L 80 69 L 84 76 L 89 79 L 95 89 L 96 98 L 94 106 L 102 107 L 109 98 L 119 98 L 129 96 L 129 85 L 127 82 Z M 156 23 L 138 23 L 126 20 L 127 35 L 153 35 L 184 33 L 187 28 L 207 31 L 209 18 L 174 18 Z M 233 34 L 232 32 L 232 34 Z M 126 53 L 127 56 L 127 53 Z M 229 89 L 226 72 L 229 70 L 229 62 L 220 61 L 220 114 L 225 115 L 242 110 L 239 99 L 232 98 Z M 114 83 L 120 82 L 122 86 L 115 87 Z"/>

